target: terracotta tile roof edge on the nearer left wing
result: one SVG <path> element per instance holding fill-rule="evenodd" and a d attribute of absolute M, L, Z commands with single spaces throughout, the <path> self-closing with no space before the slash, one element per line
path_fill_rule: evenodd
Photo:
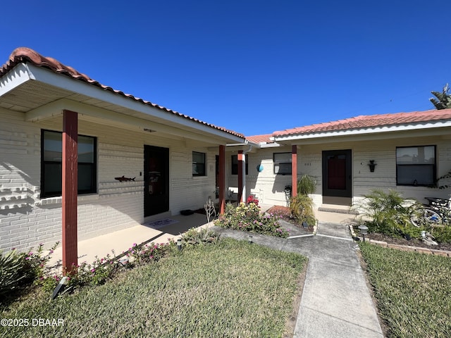
<path fill-rule="evenodd" d="M 192 118 L 188 115 L 183 115 L 176 111 L 172 111 L 171 109 L 159 106 L 158 104 L 152 104 L 152 102 L 137 98 L 137 97 L 133 96 L 132 94 L 125 94 L 124 92 L 121 92 L 120 90 L 113 89 L 109 86 L 101 84 L 100 82 L 98 82 L 96 80 L 92 80 L 92 78 L 90 78 L 89 76 L 79 73 L 77 70 L 75 70 L 74 68 L 72 68 L 68 65 L 63 65 L 63 63 L 55 60 L 54 58 L 44 57 L 41 54 L 37 53 L 36 51 L 26 48 L 26 47 L 19 47 L 19 48 L 15 49 L 13 51 L 13 53 L 11 53 L 11 56 L 9 56 L 9 60 L 4 65 L 2 65 L 0 68 L 0 77 L 6 75 L 6 73 L 8 73 L 11 69 L 13 69 L 14 66 L 18 65 L 18 63 L 27 63 L 27 62 L 30 62 L 33 65 L 36 65 L 37 67 L 47 68 L 54 73 L 66 75 L 66 76 L 72 77 L 75 80 L 87 82 L 88 84 L 92 84 L 95 87 L 99 87 L 101 89 L 108 90 L 115 94 L 125 96 L 128 99 L 133 99 L 135 101 L 139 101 L 142 104 L 146 104 L 146 105 L 152 106 L 154 108 L 159 108 L 162 111 L 166 111 L 168 113 L 178 115 L 181 118 L 187 118 L 188 120 L 192 120 L 192 121 L 200 123 L 202 125 L 212 127 L 216 130 L 221 130 L 223 132 L 227 132 L 228 134 L 233 134 L 237 137 L 242 137 L 242 138 L 245 137 L 243 134 L 234 132 L 233 130 L 228 130 L 224 127 L 218 127 L 216 125 L 212 125 L 210 123 L 203 122 L 201 120 L 198 120 L 197 118 Z"/>

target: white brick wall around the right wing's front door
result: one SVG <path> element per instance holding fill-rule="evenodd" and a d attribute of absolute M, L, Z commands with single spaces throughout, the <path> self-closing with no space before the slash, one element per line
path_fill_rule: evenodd
<path fill-rule="evenodd" d="M 308 174 L 316 177 L 318 185 L 316 193 L 311 197 L 316 207 L 322 204 L 322 151 L 351 149 L 352 150 L 352 196 L 357 201 L 370 189 L 397 189 L 405 197 L 418 199 L 426 203 L 425 196 L 436 196 L 450 199 L 450 189 L 431 189 L 427 187 L 397 187 L 396 186 L 396 147 L 436 145 L 438 157 L 438 176 L 451 170 L 451 139 L 449 137 L 412 137 L 406 139 L 387 139 L 378 141 L 343 142 L 340 144 L 316 144 L 299 146 L 297 150 L 297 175 Z M 285 185 L 291 185 L 291 175 L 274 175 L 273 153 L 291 152 L 291 147 L 259 149 L 249 153 L 249 174 L 246 177 L 246 196 L 259 191 L 264 196 L 262 203 L 287 205 L 283 192 Z M 236 153 L 234 153 L 236 154 Z M 231 175 L 231 153 L 227 153 L 227 183 L 226 186 L 237 187 L 237 175 Z M 374 160 L 376 170 L 371 173 L 369 160 Z M 264 166 L 261 173 L 257 172 L 257 164 Z M 450 181 L 447 182 L 450 184 Z"/>

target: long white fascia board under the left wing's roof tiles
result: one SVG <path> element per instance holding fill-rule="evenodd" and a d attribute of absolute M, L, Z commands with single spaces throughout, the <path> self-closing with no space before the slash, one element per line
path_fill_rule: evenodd
<path fill-rule="evenodd" d="M 82 80 L 76 80 L 66 75 L 58 75 L 51 70 L 37 67 L 35 65 L 28 65 L 28 69 L 30 70 L 30 76 L 39 82 L 51 84 L 55 87 L 60 87 L 70 92 L 86 95 L 94 99 L 132 109 L 133 111 L 144 113 L 146 115 L 152 115 L 156 118 L 166 120 L 168 123 L 180 125 L 180 127 L 189 127 L 202 134 L 211 134 L 212 136 L 228 139 L 230 142 L 240 142 L 243 140 L 242 137 L 237 137 L 233 134 L 228 134 L 227 132 L 217 130 L 214 127 L 209 127 L 207 125 L 203 125 L 202 123 L 195 122 L 189 118 L 175 115 L 174 113 L 165 111 L 164 109 L 152 107 L 149 104 L 143 104 L 135 99 L 128 98 L 122 94 L 112 92 L 111 90 L 96 87 Z"/>

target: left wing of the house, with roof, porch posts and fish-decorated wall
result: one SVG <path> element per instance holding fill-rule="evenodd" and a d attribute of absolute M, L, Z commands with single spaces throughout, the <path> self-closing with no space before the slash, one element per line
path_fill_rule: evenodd
<path fill-rule="evenodd" d="M 245 142 L 27 48 L 0 68 L 0 120 L 0 249 L 62 239 L 63 264 L 80 239 L 225 196 L 226 145 Z"/>

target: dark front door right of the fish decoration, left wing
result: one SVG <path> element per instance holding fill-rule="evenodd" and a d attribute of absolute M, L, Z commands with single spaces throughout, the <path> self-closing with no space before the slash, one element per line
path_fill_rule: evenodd
<path fill-rule="evenodd" d="M 169 211 L 169 149 L 144 146 L 144 217 Z"/>

